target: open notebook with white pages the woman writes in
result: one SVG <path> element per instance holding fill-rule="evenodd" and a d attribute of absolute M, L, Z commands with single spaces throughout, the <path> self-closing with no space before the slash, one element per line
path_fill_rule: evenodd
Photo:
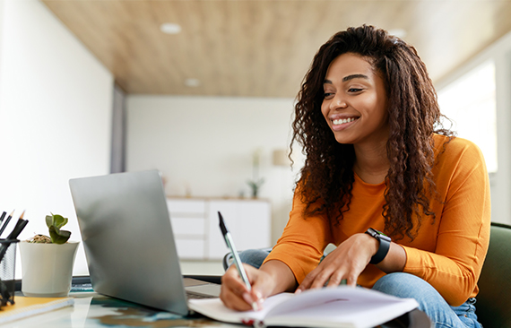
<path fill-rule="evenodd" d="M 189 300 L 189 307 L 202 315 L 256 327 L 374 327 L 417 306 L 413 298 L 395 298 L 375 290 L 348 286 L 278 294 L 267 298 L 261 311 L 230 310 L 220 298 Z"/>

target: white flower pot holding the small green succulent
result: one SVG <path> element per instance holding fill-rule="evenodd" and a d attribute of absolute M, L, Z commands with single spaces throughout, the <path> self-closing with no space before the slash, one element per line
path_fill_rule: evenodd
<path fill-rule="evenodd" d="M 35 244 L 20 242 L 22 292 L 36 298 L 67 296 L 73 279 L 73 265 L 79 242 Z"/>

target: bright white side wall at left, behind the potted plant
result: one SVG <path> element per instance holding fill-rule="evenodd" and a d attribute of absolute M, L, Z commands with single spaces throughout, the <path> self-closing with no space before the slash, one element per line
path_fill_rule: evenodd
<path fill-rule="evenodd" d="M 21 239 L 53 211 L 80 240 L 68 179 L 108 173 L 113 77 L 39 1 L 5 0 L 0 22 L 0 210 L 26 210 Z"/>

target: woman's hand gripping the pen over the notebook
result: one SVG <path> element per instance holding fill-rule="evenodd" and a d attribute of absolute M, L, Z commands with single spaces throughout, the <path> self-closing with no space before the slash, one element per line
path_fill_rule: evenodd
<path fill-rule="evenodd" d="M 267 272 L 257 270 L 248 264 L 243 264 L 243 267 L 252 289 L 250 291 L 247 289 L 239 277 L 238 270 L 231 265 L 221 277 L 221 301 L 225 306 L 237 311 L 252 310 L 253 303 L 261 309 L 264 298 L 267 298 L 274 288 L 274 282 Z"/>

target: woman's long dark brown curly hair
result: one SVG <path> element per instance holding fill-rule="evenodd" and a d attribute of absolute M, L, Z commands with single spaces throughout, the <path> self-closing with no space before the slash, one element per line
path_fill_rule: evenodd
<path fill-rule="evenodd" d="M 297 182 L 307 204 L 305 215 L 326 213 L 331 224 L 337 224 L 343 212 L 350 210 L 355 151 L 352 144 L 335 140 L 321 112 L 326 71 L 333 59 L 345 53 L 368 60 L 384 81 L 390 162 L 382 210 L 385 233 L 396 239 L 404 235 L 413 239 L 422 214 L 435 220 L 429 209 L 430 197 L 437 194 L 432 179 L 433 134 L 454 133 L 442 127 L 437 93 L 415 48 L 373 26 L 333 35 L 316 53 L 299 91 L 290 150 L 298 142 L 306 155 Z"/>

